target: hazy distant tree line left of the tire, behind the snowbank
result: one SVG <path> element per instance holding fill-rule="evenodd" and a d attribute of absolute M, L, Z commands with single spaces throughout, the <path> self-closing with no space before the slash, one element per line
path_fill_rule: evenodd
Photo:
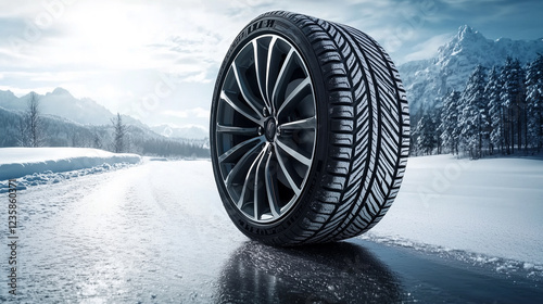
<path fill-rule="evenodd" d="M 1 109 L 0 109 L 1 110 Z M 79 147 L 115 153 L 153 156 L 209 157 L 204 141 L 172 139 L 126 125 L 119 113 L 106 126 L 83 126 L 60 117 L 41 115 L 38 94 L 31 92 L 23 113 L 0 111 L 0 147 Z"/>

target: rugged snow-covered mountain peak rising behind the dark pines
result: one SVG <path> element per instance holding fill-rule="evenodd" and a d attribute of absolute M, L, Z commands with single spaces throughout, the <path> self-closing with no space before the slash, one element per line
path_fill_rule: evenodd
<path fill-rule="evenodd" d="M 421 107 L 432 107 L 447 90 L 463 90 L 478 64 L 489 68 L 501 66 L 507 56 L 526 64 L 538 53 L 543 53 L 543 39 L 491 40 L 464 25 L 449 42 L 439 48 L 435 58 L 406 62 L 399 65 L 397 69 L 407 91 L 411 112 L 415 114 Z"/>

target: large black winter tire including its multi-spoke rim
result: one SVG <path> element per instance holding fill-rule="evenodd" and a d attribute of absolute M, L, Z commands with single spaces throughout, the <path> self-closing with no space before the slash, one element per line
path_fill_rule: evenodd
<path fill-rule="evenodd" d="M 218 72 L 211 159 L 238 229 L 272 245 L 338 241 L 390 208 L 409 151 L 400 75 L 352 27 L 268 12 Z"/>

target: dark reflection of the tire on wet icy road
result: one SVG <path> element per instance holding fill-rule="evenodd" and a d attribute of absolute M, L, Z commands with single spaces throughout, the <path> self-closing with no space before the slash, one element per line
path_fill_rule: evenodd
<path fill-rule="evenodd" d="M 390 303 L 394 274 L 363 246 L 339 242 L 277 249 L 247 242 L 225 264 L 217 303 Z"/>

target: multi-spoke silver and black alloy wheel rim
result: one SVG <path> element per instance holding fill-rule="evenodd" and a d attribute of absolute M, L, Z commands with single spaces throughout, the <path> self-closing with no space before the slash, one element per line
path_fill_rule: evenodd
<path fill-rule="evenodd" d="M 241 214 L 270 223 L 292 210 L 313 166 L 316 132 L 313 81 L 298 50 L 277 35 L 251 40 L 222 84 L 213 152 Z"/>

